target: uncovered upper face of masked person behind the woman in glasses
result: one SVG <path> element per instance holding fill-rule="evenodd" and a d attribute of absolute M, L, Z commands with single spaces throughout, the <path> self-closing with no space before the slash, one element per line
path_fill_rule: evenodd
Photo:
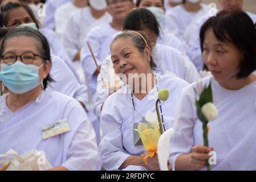
<path fill-rule="evenodd" d="M 8 28 L 15 28 L 23 23 L 32 23 L 32 22 L 33 20 L 31 16 L 23 7 L 12 9 L 8 13 L 8 17 L 7 17 Z"/>

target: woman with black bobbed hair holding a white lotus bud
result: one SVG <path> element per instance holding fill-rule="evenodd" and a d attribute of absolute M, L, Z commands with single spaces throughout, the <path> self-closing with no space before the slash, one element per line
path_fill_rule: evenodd
<path fill-rule="evenodd" d="M 237 26 L 239 24 L 239 26 Z M 201 27 L 201 49 L 212 76 L 182 92 L 170 140 L 170 163 L 176 170 L 206 169 L 214 150 L 214 170 L 255 170 L 256 30 L 243 11 L 220 11 Z M 202 122 L 195 100 L 200 87 L 212 85 L 218 117 L 209 122 L 209 146 L 203 146 Z M 200 86 L 201 85 L 201 86 Z M 214 152 L 213 152 L 214 154 Z M 215 158 L 215 159 L 214 159 Z"/>

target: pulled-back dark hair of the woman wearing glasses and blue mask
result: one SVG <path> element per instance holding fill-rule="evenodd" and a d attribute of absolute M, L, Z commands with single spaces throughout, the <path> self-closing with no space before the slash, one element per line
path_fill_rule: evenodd
<path fill-rule="evenodd" d="M 2 39 L 1 48 L 0 48 L 0 55 L 3 55 L 3 52 L 6 48 L 7 40 L 19 36 L 26 36 L 29 38 L 33 38 L 36 40 L 36 42 L 40 45 L 40 47 L 37 47 L 38 51 L 40 52 L 40 55 L 45 57 L 46 59 L 43 59 L 44 63 L 48 60 L 51 63 L 51 55 L 50 55 L 50 46 L 47 42 L 46 37 L 41 34 L 39 31 L 34 30 L 30 27 L 23 27 L 23 28 L 14 28 L 13 30 L 10 30 Z M 47 82 L 54 81 L 50 75 L 47 75 L 46 78 L 43 80 L 43 86 L 44 89 L 47 87 Z"/>

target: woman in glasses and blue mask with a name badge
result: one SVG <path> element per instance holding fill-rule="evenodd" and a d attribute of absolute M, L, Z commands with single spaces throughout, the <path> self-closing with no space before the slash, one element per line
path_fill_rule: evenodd
<path fill-rule="evenodd" d="M 71 97 L 46 89 L 52 81 L 50 48 L 31 28 L 15 28 L 2 40 L 0 80 L 9 89 L 0 100 L 0 154 L 44 151 L 54 170 L 95 170 L 95 132 L 83 107 Z M 69 129 L 46 129 L 58 122 Z"/>

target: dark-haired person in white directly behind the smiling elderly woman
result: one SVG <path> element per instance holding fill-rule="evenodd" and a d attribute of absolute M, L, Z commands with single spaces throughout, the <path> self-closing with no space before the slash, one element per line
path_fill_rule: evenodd
<path fill-rule="evenodd" d="M 174 39 L 169 39 L 170 42 L 174 40 L 173 43 L 170 43 L 174 48 L 164 46 L 159 43 L 159 24 L 157 23 L 157 20 L 151 11 L 144 8 L 132 10 L 125 17 L 123 30 L 144 31 L 145 34 L 149 36 L 153 46 L 152 57 L 157 65 L 155 72 L 160 73 L 160 75 L 175 75 L 189 83 L 200 79 L 200 75 L 198 74 L 193 63 L 188 59 L 188 56 L 177 50 L 179 46 Z M 111 93 L 112 89 L 109 87 L 104 87 L 101 76 L 104 78 L 106 83 L 115 85 L 114 82 L 111 82 L 115 81 L 115 76 L 112 76 L 113 74 L 111 74 L 114 73 L 112 70 L 113 64 L 111 56 L 108 56 L 105 58 L 105 60 L 103 60 L 103 63 L 101 63 L 101 75 L 97 77 L 96 102 L 94 104 L 94 112 L 98 118 L 100 117 L 101 106 L 105 98 L 107 98 L 109 95 L 109 92 Z M 120 79 L 119 77 L 116 78 L 117 83 L 120 81 Z"/>

